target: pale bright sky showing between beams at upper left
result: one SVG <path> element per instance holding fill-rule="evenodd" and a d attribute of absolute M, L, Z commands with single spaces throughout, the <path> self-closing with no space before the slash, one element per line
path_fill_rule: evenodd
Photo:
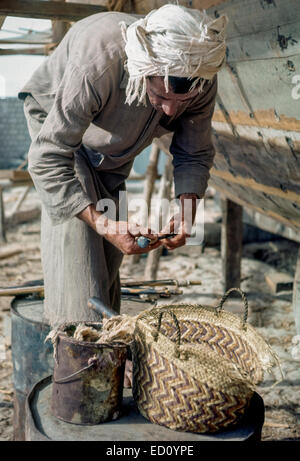
<path fill-rule="evenodd" d="M 26 33 L 26 30 L 22 28 L 42 31 L 50 27 L 51 21 L 46 19 L 7 17 L 0 30 L 0 38 L 10 38 L 19 35 L 18 33 Z M 0 48 L 8 47 L 16 48 L 17 45 L 0 44 Z M 44 56 L 0 56 L 0 97 L 17 96 L 18 91 L 44 59 Z"/>

